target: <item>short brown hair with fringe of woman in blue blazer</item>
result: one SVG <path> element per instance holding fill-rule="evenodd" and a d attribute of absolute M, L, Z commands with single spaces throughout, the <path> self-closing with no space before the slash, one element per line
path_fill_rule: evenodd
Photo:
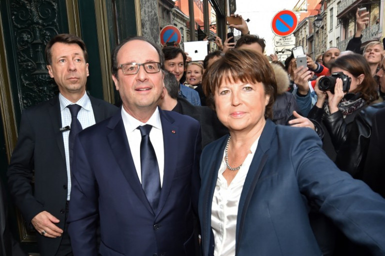
<path fill-rule="evenodd" d="M 274 71 L 265 56 L 253 50 L 234 48 L 226 51 L 222 58 L 215 61 L 202 80 L 204 94 L 211 101 L 211 106 L 213 106 L 215 89 L 220 86 L 223 79 L 242 83 L 262 83 L 264 93 L 270 96 L 264 117 L 272 118 L 272 106 L 276 98 L 276 81 Z"/>

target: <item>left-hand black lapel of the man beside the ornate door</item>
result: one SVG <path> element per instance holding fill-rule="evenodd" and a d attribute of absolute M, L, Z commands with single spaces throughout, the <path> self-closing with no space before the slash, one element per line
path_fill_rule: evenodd
<path fill-rule="evenodd" d="M 49 101 L 48 115 L 49 115 L 49 120 L 51 121 L 51 124 L 52 124 L 53 134 L 55 135 L 57 146 L 60 150 L 61 157 L 65 162 L 63 134 L 62 132 L 60 132 L 61 113 L 60 113 L 59 96 L 55 96 Z"/>

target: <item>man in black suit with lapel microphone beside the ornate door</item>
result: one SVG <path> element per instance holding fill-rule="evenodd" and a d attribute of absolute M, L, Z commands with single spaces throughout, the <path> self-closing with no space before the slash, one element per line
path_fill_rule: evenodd
<path fill-rule="evenodd" d="M 39 233 L 40 255 L 66 256 L 72 255 L 65 225 L 71 188 L 68 138 L 111 116 L 117 108 L 86 94 L 87 51 L 79 37 L 56 35 L 45 55 L 60 93 L 23 112 L 7 175 L 16 206 Z M 77 115 L 71 114 L 73 106 Z"/>

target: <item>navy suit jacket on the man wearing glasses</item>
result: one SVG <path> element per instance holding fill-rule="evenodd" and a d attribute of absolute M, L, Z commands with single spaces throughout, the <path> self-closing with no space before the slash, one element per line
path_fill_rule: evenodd
<path fill-rule="evenodd" d="M 193 256 L 193 213 L 199 190 L 200 126 L 160 112 L 164 174 L 157 212 L 139 182 L 121 113 L 79 133 L 72 162 L 68 232 L 75 256 L 95 256 L 100 219 L 102 256 Z"/>

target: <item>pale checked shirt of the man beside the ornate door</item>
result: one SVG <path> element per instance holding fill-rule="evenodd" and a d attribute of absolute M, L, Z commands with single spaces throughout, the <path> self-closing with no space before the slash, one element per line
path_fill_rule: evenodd
<path fill-rule="evenodd" d="M 93 116 L 92 104 L 89 100 L 88 95 L 84 92 L 83 97 L 81 97 L 76 103 L 72 103 L 67 100 L 61 93 L 59 93 L 59 102 L 60 102 L 60 113 L 61 113 L 61 127 L 71 126 L 71 112 L 67 108 L 70 104 L 77 104 L 81 106 L 79 112 L 77 113 L 77 119 L 81 124 L 81 128 L 85 129 L 88 126 L 95 124 L 95 117 Z M 69 147 L 68 147 L 68 136 L 69 130 L 63 132 L 63 142 L 64 142 L 64 152 L 65 152 L 65 163 L 67 166 L 67 200 L 69 200 L 69 195 L 71 193 L 71 172 L 70 172 L 70 163 L 69 163 Z"/>

